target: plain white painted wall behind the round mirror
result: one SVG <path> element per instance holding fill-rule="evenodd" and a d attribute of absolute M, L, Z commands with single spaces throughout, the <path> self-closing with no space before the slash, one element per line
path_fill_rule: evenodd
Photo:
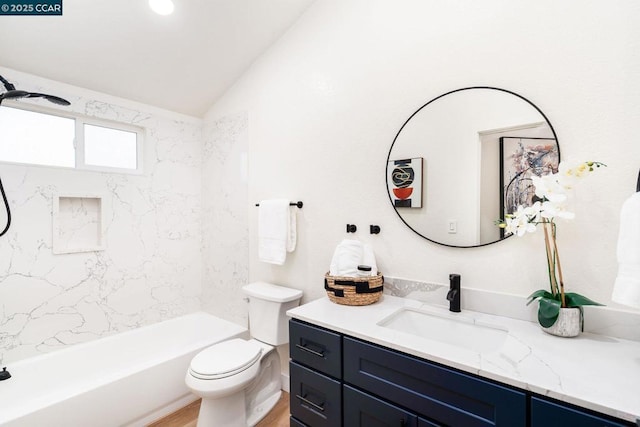
<path fill-rule="evenodd" d="M 298 248 L 284 266 L 257 259 L 249 209 L 250 279 L 323 295 L 345 224 L 371 242 L 390 276 L 528 295 L 547 283 L 542 235 L 477 249 L 434 245 L 388 201 L 385 160 L 406 118 L 450 90 L 489 85 L 537 105 L 563 158 L 608 168 L 578 190 L 559 228 L 568 288 L 610 303 L 618 213 L 640 168 L 640 3 L 635 0 L 323 0 L 211 110 L 248 111 L 249 204 L 303 200 Z M 382 233 L 368 234 L 369 224 Z"/>

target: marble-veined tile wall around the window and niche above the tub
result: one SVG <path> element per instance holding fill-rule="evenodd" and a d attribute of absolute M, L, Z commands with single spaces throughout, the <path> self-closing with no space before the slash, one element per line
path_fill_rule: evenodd
<path fill-rule="evenodd" d="M 13 217 L 0 238 L 0 361 L 199 309 L 202 121 L 15 70 L 0 74 L 68 99 L 62 112 L 146 129 L 143 175 L 0 164 Z M 59 193 L 102 196 L 104 251 L 52 254 Z"/>

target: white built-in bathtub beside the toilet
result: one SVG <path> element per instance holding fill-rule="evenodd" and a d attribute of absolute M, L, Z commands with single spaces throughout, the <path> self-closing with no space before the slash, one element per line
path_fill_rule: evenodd
<path fill-rule="evenodd" d="M 144 426 L 196 400 L 184 384 L 201 349 L 247 329 L 193 313 L 7 365 L 1 426 Z"/>

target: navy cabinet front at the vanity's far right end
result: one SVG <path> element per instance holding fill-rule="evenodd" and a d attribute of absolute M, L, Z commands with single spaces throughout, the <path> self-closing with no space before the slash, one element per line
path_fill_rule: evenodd
<path fill-rule="evenodd" d="M 531 427 L 626 427 L 632 423 L 593 415 L 562 403 L 531 398 Z"/>

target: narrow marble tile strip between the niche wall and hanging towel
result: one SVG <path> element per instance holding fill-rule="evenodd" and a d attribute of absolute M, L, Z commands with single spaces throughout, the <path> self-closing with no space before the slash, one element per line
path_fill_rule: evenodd
<path fill-rule="evenodd" d="M 240 288 L 249 280 L 248 115 L 228 114 L 203 127 L 203 309 L 247 326 Z"/>

